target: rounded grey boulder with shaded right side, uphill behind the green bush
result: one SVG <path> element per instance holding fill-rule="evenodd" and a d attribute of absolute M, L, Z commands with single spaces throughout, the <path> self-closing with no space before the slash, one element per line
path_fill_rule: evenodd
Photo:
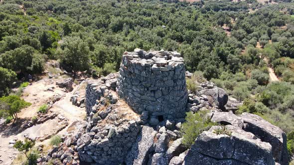
<path fill-rule="evenodd" d="M 228 95 L 222 88 L 204 88 L 200 92 L 207 96 L 210 104 L 218 106 L 219 109 L 224 109 L 224 106 L 228 102 Z"/>

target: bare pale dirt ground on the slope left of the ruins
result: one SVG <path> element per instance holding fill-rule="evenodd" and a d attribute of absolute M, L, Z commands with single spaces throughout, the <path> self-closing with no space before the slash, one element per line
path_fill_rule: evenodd
<path fill-rule="evenodd" d="M 62 115 L 67 119 L 68 126 L 60 131 L 62 134 L 66 134 L 68 127 L 74 127 L 75 124 L 79 124 L 79 121 L 83 121 L 86 116 L 86 111 L 85 108 L 74 106 L 69 101 L 77 86 L 74 86 L 74 90 L 72 92 L 66 93 L 65 89 L 59 88 L 55 84 L 57 80 L 43 78 L 42 80 L 27 86 L 23 90 L 22 98 L 25 101 L 32 103 L 32 105 L 18 113 L 18 117 L 19 119 L 31 120 L 33 116 L 37 116 L 37 110 L 41 105 L 47 104 L 52 97 L 61 95 L 63 97 L 53 104 L 50 111 Z M 53 91 L 47 90 L 50 87 L 54 87 Z M 56 128 L 61 127 L 60 122 L 62 121 L 59 121 L 58 117 L 55 117 L 54 119 L 47 120 L 42 124 L 34 125 L 21 132 L 14 132 L 13 129 L 9 127 L 9 130 L 0 132 L 0 165 L 10 165 L 18 153 L 15 149 L 8 148 L 9 141 L 11 139 L 17 138 L 18 140 L 24 140 L 24 134 L 28 134 L 31 137 L 45 137 L 54 133 Z M 4 125 L 0 125 L 0 128 L 1 127 L 4 127 Z M 47 144 L 48 142 L 49 141 L 46 140 L 42 142 L 42 144 Z M 40 144 L 40 142 L 37 142 L 36 144 Z"/>

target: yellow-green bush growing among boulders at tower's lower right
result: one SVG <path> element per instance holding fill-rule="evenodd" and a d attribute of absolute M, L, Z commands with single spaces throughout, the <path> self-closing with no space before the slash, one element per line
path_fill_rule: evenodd
<path fill-rule="evenodd" d="M 183 123 L 181 132 L 183 134 L 183 144 L 189 148 L 199 134 L 216 125 L 216 123 L 210 121 L 207 117 L 207 111 L 200 111 L 195 114 L 187 112 L 186 114 L 186 121 Z"/>

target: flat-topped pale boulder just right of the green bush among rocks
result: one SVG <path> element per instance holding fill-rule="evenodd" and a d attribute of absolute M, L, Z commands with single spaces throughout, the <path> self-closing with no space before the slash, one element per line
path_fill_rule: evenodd
<path fill-rule="evenodd" d="M 230 112 L 213 112 L 211 121 L 222 125 L 231 124 L 238 128 L 243 127 L 243 119 Z"/>

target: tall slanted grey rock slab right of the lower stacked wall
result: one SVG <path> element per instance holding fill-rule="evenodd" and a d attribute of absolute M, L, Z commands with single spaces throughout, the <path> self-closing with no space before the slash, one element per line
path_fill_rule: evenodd
<path fill-rule="evenodd" d="M 146 165 L 148 154 L 154 150 L 153 128 L 143 126 L 142 132 L 126 158 L 126 165 Z"/>

